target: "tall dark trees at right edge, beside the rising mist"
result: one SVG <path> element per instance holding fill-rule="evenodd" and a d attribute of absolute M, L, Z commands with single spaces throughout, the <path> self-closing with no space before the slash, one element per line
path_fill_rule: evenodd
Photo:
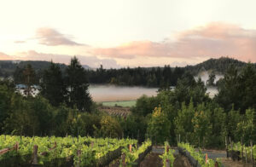
<path fill-rule="evenodd" d="M 230 111 L 234 106 L 235 110 L 245 113 L 247 108 L 256 107 L 256 70 L 252 64 L 247 64 L 240 72 L 236 66 L 230 66 L 218 83 L 218 95 L 215 100 L 226 111 Z"/>

